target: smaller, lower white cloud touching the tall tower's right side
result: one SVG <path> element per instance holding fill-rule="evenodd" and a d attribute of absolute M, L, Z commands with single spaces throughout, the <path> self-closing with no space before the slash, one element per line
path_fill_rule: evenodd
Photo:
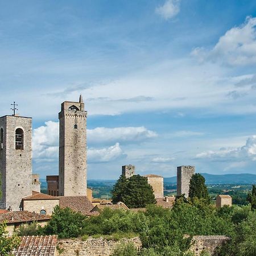
<path fill-rule="evenodd" d="M 115 143 L 114 146 L 110 146 L 108 148 L 89 148 L 87 150 L 87 159 L 89 163 L 110 162 L 120 158 L 125 158 L 125 156 L 126 155 L 123 154 L 119 143 Z"/>

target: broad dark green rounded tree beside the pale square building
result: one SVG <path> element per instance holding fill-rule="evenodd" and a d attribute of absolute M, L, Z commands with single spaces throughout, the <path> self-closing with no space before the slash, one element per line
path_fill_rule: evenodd
<path fill-rule="evenodd" d="M 146 177 L 134 175 L 126 179 L 122 175 L 115 183 L 112 200 L 116 204 L 122 201 L 129 208 L 144 208 L 155 203 L 154 191 Z"/>

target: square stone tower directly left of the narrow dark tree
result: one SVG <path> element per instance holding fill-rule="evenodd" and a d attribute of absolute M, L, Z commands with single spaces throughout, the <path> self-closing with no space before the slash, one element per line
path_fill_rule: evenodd
<path fill-rule="evenodd" d="M 177 196 L 185 194 L 188 197 L 191 176 L 195 174 L 195 166 L 177 167 Z"/>

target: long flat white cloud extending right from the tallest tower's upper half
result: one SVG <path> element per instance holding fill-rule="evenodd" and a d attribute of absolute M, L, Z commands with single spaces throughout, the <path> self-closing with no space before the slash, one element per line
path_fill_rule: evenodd
<path fill-rule="evenodd" d="M 109 142 L 129 142 L 137 143 L 157 137 L 154 131 L 147 130 L 145 127 L 117 127 L 106 128 L 97 127 L 87 130 L 87 138 L 92 143 Z"/>

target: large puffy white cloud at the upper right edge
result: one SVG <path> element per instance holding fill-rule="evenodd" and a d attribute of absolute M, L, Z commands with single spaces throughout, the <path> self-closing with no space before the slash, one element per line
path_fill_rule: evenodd
<path fill-rule="evenodd" d="M 256 63 L 256 18 L 247 17 L 241 26 L 233 27 L 221 36 L 210 50 L 195 48 L 192 55 L 200 61 L 220 61 L 229 65 Z"/>

